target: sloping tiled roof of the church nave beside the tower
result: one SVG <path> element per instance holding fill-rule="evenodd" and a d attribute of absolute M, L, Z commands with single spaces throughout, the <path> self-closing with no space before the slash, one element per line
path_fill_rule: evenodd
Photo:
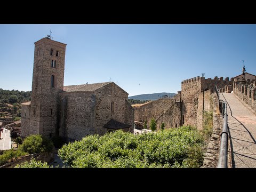
<path fill-rule="evenodd" d="M 84 84 L 84 85 L 69 85 L 64 86 L 63 91 L 66 92 L 73 92 L 73 91 L 95 91 L 100 87 L 108 85 L 112 82 L 105 82 L 105 83 L 92 83 L 92 84 Z"/>

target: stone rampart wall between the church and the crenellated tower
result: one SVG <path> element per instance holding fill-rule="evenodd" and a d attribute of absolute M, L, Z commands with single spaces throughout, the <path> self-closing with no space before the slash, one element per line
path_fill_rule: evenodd
<path fill-rule="evenodd" d="M 147 119 L 148 128 L 150 119 L 155 118 L 157 129 L 162 123 L 165 123 L 165 128 L 181 126 L 181 103 L 175 102 L 173 98 L 158 99 L 144 105 L 134 106 L 134 121 L 145 122 Z"/>

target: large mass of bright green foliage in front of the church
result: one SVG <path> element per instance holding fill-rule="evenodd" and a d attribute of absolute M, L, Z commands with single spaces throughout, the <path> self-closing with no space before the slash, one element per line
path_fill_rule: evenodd
<path fill-rule="evenodd" d="M 200 167 L 204 145 L 190 126 L 139 135 L 118 130 L 65 144 L 58 155 L 71 167 Z"/>

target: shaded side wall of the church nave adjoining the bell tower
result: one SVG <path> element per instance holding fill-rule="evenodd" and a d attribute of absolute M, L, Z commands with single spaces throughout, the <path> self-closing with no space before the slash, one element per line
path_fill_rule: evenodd
<path fill-rule="evenodd" d="M 91 92 L 72 92 L 60 94 L 66 99 L 60 110 L 60 135 L 64 138 L 81 140 L 87 134 L 94 134 L 95 95 Z"/>

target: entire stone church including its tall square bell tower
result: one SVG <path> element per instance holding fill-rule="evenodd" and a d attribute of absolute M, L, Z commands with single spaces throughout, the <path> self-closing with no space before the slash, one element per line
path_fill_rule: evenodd
<path fill-rule="evenodd" d="M 114 82 L 63 86 L 66 44 L 50 35 L 35 42 L 31 101 L 22 103 L 21 137 L 68 140 L 122 129 L 133 133 L 134 109 Z"/>

